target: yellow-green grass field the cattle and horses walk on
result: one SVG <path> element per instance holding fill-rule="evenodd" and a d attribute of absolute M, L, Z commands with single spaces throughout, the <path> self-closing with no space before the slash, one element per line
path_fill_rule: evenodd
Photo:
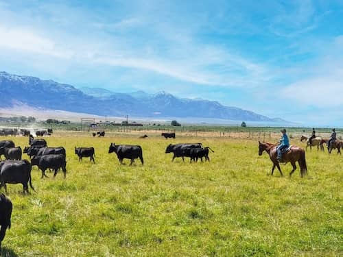
<path fill-rule="evenodd" d="M 27 138 L 14 138 L 27 145 Z M 171 142 L 210 146 L 211 162 L 171 163 Z M 342 256 L 342 167 L 337 154 L 307 152 L 309 175 L 268 175 L 258 143 L 228 138 L 51 137 L 67 149 L 67 179 L 8 185 L 12 228 L 2 256 Z M 145 164 L 119 165 L 110 142 L 139 144 Z M 301 145 L 298 142 L 291 143 Z M 78 162 L 75 146 L 94 146 Z M 304 145 L 302 145 L 304 146 Z M 26 154 L 23 158 L 27 158 Z M 288 175 L 290 164 L 282 166 Z"/>

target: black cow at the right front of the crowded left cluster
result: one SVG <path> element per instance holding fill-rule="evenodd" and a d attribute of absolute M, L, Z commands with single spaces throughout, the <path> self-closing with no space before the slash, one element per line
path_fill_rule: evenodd
<path fill-rule="evenodd" d="M 58 169 L 62 168 L 64 178 L 66 177 L 67 169 L 66 165 L 67 162 L 65 160 L 65 156 L 62 154 L 48 154 L 46 156 L 34 156 L 31 158 L 31 164 L 32 166 L 36 165 L 38 166 L 38 169 L 42 171 L 42 177 L 47 177 L 45 175 L 45 171 L 47 169 L 53 169 L 54 170 L 54 177 L 56 177 Z"/>

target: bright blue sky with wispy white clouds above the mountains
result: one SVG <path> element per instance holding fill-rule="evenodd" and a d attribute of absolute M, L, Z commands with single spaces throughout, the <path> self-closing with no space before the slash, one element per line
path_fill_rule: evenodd
<path fill-rule="evenodd" d="M 0 71 L 343 126 L 343 1 L 3 1 Z"/>

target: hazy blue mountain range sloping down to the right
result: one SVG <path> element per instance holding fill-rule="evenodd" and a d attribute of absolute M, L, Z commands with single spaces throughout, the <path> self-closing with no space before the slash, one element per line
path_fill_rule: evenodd
<path fill-rule="evenodd" d="M 104 88 L 75 88 L 53 80 L 0 72 L 0 108 L 24 103 L 34 108 L 82 112 L 99 116 L 163 119 L 211 118 L 233 121 L 287 123 L 217 101 L 182 99 L 169 93 L 115 93 Z"/>

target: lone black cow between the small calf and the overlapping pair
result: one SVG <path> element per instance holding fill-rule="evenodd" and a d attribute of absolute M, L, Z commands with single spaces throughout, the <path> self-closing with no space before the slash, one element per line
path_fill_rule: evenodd
<path fill-rule="evenodd" d="M 140 145 L 115 145 L 110 143 L 108 154 L 115 152 L 119 159 L 120 164 L 123 164 L 123 159 L 130 159 L 130 165 L 134 162 L 134 159 L 139 158 L 144 164 L 143 151 Z"/>

